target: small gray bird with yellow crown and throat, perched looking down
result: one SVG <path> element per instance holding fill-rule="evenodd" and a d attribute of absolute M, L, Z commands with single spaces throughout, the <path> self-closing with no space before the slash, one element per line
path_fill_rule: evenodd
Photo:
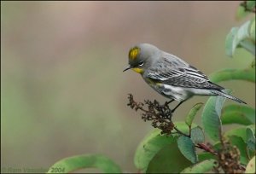
<path fill-rule="evenodd" d="M 213 84 L 205 74 L 175 55 L 166 53 L 152 44 L 137 44 L 129 51 L 129 67 L 140 73 L 143 79 L 161 95 L 178 101 L 172 112 L 192 96 L 224 96 L 245 103 L 224 92 Z M 168 102 L 168 103 L 170 103 Z"/>

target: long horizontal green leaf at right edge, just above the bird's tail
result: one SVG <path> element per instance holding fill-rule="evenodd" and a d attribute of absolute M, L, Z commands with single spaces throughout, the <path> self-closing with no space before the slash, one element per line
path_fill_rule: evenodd
<path fill-rule="evenodd" d="M 209 78 L 212 82 L 218 83 L 228 80 L 246 80 L 249 82 L 255 82 L 255 69 L 224 69 L 216 73 L 212 73 Z"/>

